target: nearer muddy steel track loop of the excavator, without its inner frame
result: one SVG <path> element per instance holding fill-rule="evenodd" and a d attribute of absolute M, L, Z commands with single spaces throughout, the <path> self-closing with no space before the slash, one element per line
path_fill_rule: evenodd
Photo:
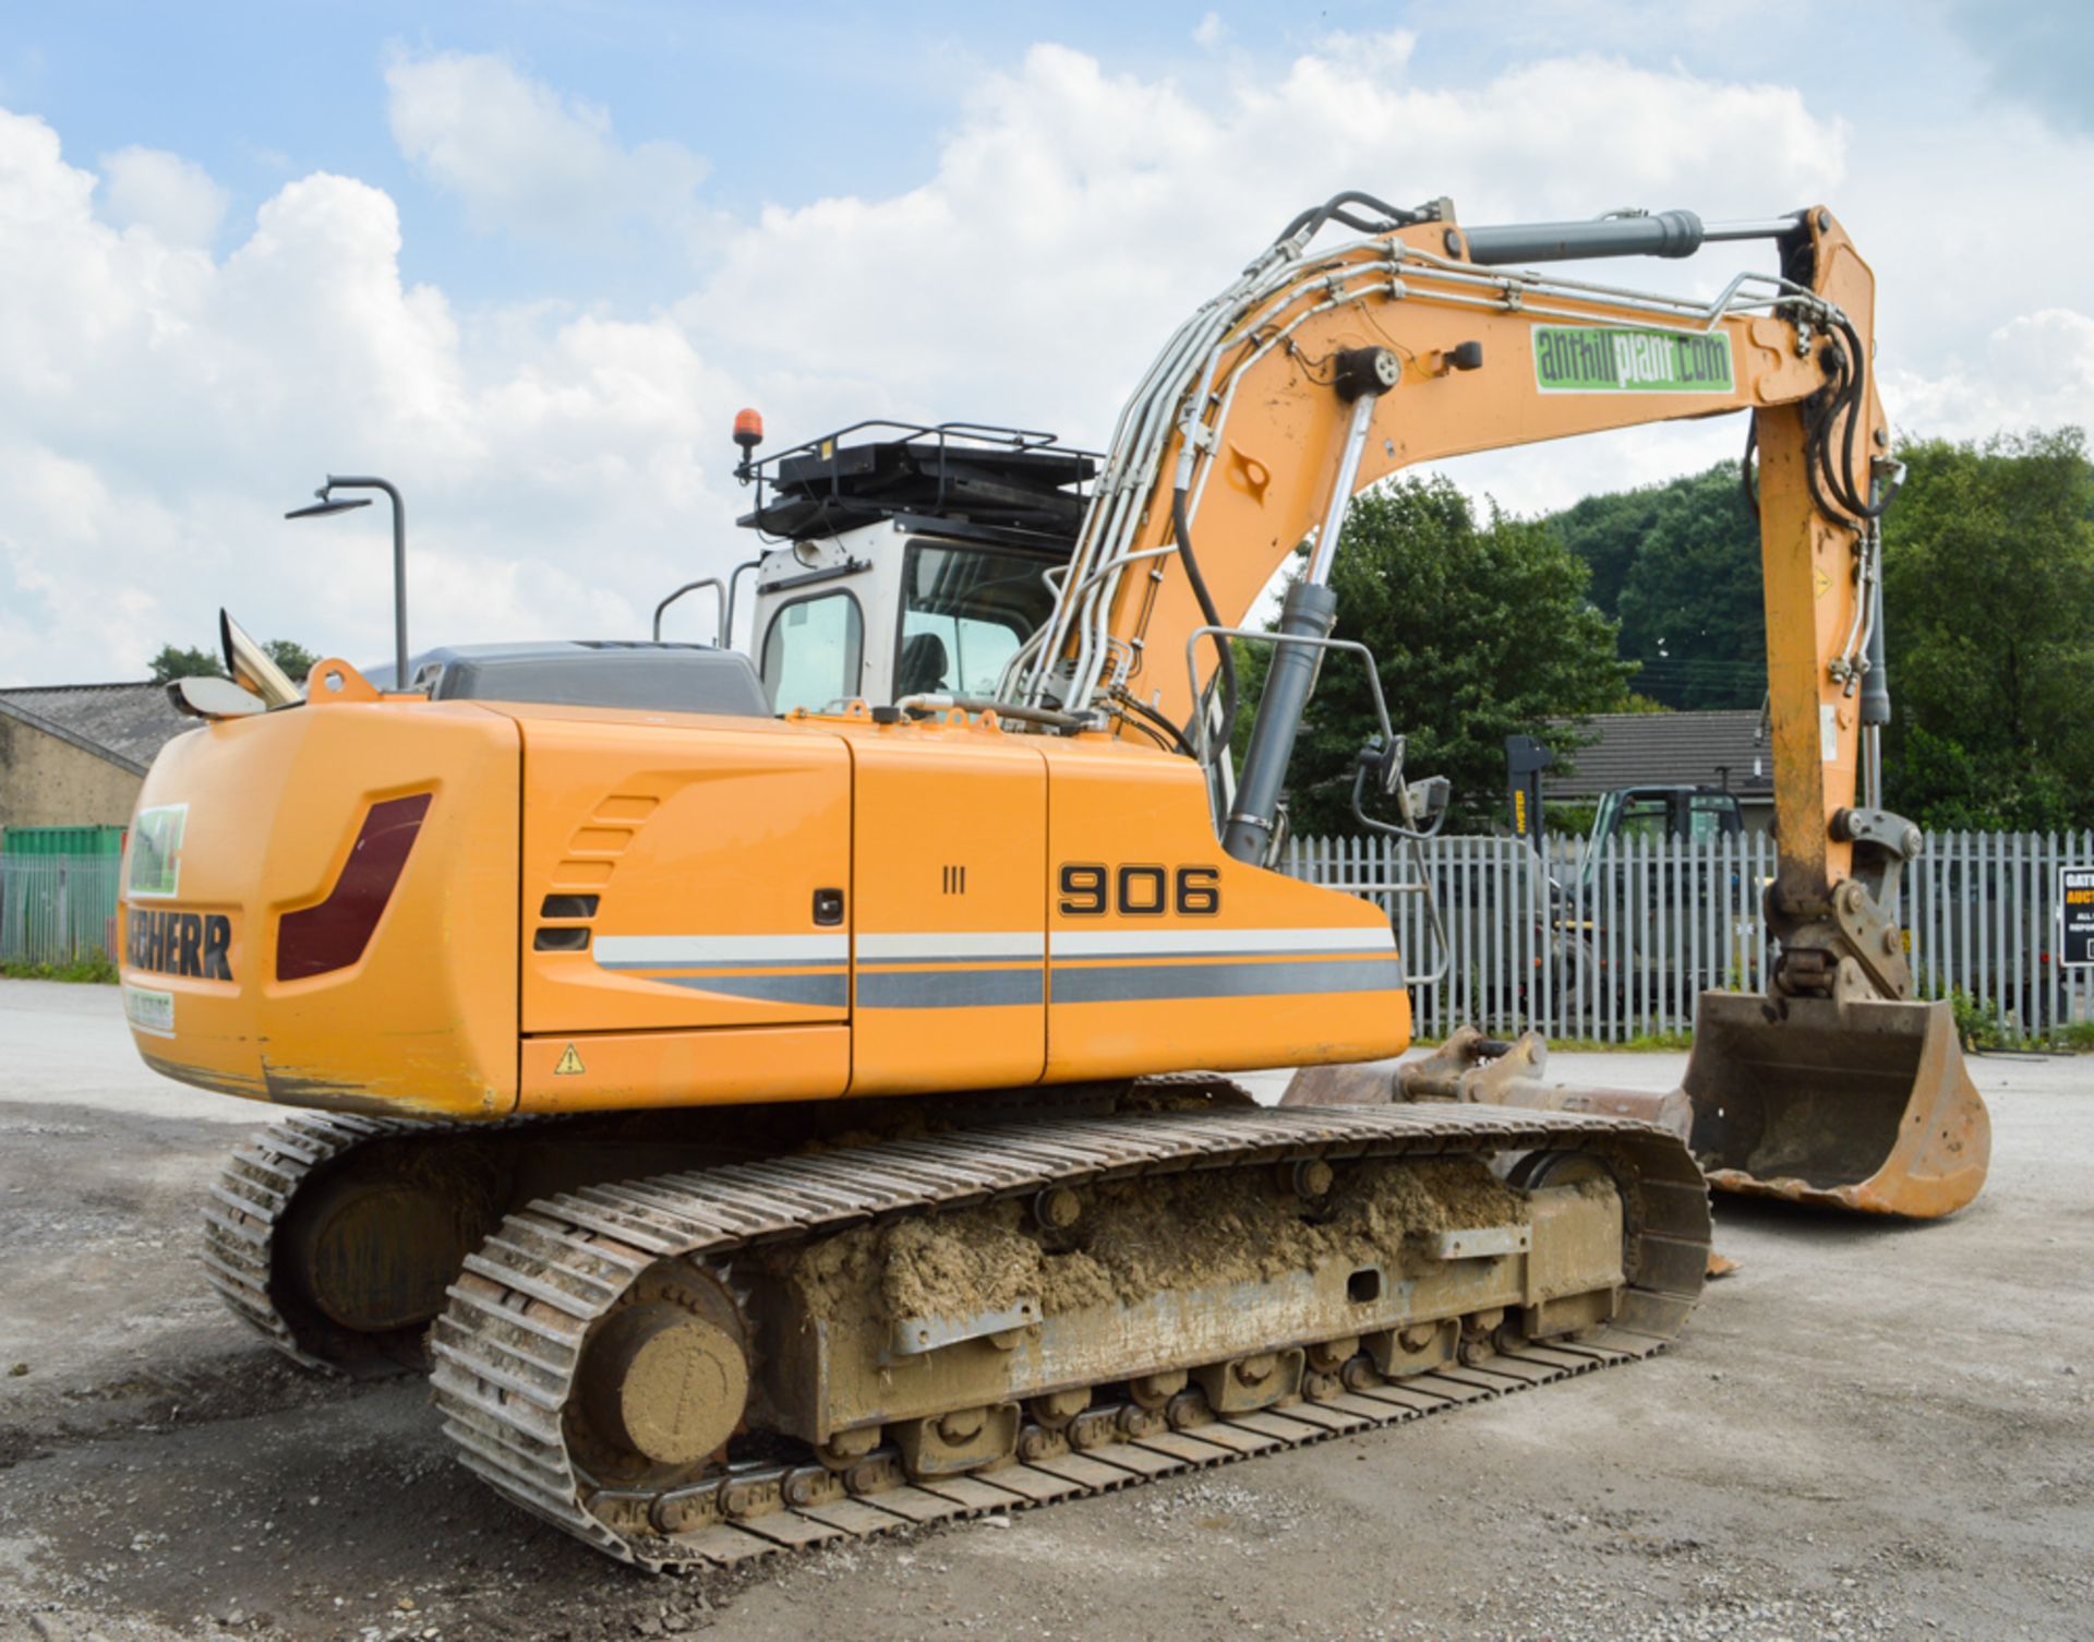
<path fill-rule="evenodd" d="M 1269 1167 L 1307 1158 L 1399 1158 L 1589 1150 L 1608 1158 L 1627 1211 L 1621 1311 L 1598 1338 L 1524 1347 L 1476 1366 L 1185 1430 L 1081 1420 L 1070 1447 L 1028 1433 L 1041 1456 L 911 1483 L 892 1454 L 842 1479 L 819 1466 L 729 1468 L 674 1489 L 599 1487 L 570 1449 L 563 1412 L 591 1328 L 660 1261 L 722 1261 L 760 1244 L 1028 1196 L 1049 1185 Z M 496 1491 L 599 1550 L 649 1569 L 741 1562 L 838 1537 L 1112 1491 L 1179 1470 L 1401 1424 L 1646 1357 L 1700 1292 L 1709 1192 L 1679 1141 L 1652 1125 L 1476 1106 L 1137 1112 L 1039 1118 L 850 1152 L 783 1156 L 582 1188 L 509 1215 L 467 1257 L 431 1330 L 444 1433 Z M 1143 1428 L 1143 1424 L 1148 1428 Z M 1068 1449 L 1068 1451 L 1055 1451 Z"/>

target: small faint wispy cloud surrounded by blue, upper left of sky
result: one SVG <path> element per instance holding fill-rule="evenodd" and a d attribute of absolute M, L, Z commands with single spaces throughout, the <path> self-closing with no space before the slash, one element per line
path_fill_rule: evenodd
<path fill-rule="evenodd" d="M 396 57 L 387 117 L 400 145 L 480 228 L 584 243 L 632 220 L 699 220 L 706 161 L 678 142 L 624 147 L 599 107 L 500 57 Z"/>

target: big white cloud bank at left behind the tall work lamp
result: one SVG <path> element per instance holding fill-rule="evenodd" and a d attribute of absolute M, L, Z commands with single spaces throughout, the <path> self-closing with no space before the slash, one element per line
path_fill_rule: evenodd
<path fill-rule="evenodd" d="M 218 603 L 383 656 L 383 509 L 279 517 L 329 467 L 406 492 L 419 643 L 637 635 L 729 557 L 735 392 L 676 325 L 461 323 L 350 178 L 287 184 L 222 262 L 109 226 L 94 184 L 0 115 L 0 683 L 138 676 Z"/>

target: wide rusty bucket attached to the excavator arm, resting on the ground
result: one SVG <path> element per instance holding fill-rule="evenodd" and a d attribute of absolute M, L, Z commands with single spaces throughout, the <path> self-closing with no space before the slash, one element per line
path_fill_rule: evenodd
<path fill-rule="evenodd" d="M 1702 993 L 1686 1093 L 1721 1192 L 1937 1219 L 1985 1185 L 1991 1118 L 1947 1003 Z"/>

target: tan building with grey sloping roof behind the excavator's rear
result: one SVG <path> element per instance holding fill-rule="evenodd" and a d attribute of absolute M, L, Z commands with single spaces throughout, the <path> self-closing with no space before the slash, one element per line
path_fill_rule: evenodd
<path fill-rule="evenodd" d="M 128 827 L 147 767 L 197 729 L 168 687 L 0 689 L 0 827 Z"/>

